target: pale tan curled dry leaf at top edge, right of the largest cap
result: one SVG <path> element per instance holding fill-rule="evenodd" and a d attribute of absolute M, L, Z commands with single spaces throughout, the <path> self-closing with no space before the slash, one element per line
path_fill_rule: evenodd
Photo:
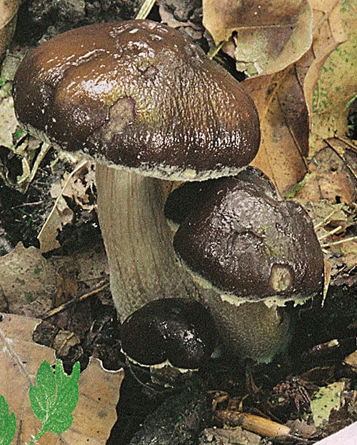
<path fill-rule="evenodd" d="M 308 0 L 203 0 L 203 25 L 215 44 L 248 76 L 273 74 L 300 59 L 311 46 Z M 233 34 L 233 36 L 232 36 Z"/>

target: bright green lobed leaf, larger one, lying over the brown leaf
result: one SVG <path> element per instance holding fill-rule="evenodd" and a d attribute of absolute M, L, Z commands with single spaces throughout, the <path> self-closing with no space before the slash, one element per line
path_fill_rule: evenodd
<path fill-rule="evenodd" d="M 44 361 L 36 374 L 37 386 L 30 388 L 30 402 L 35 416 L 41 420 L 41 435 L 45 431 L 61 434 L 72 424 L 72 411 L 79 399 L 80 365 L 74 364 L 72 373 L 67 376 L 63 364 L 56 361 L 53 372 L 48 361 Z"/>

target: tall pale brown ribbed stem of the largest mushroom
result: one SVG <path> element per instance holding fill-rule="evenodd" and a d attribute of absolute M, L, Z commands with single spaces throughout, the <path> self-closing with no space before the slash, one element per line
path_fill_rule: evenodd
<path fill-rule="evenodd" d="M 121 321 L 154 299 L 198 292 L 176 258 L 161 181 L 96 165 L 98 215 Z"/>

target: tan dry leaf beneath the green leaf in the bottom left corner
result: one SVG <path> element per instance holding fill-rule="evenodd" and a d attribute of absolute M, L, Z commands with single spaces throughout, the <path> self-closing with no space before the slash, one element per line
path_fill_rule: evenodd
<path fill-rule="evenodd" d="M 26 444 L 31 434 L 41 428 L 29 404 L 29 386 L 42 361 L 56 362 L 54 350 L 32 341 L 32 334 L 40 320 L 4 314 L 0 323 L 0 394 L 16 415 L 16 436 L 11 444 Z M 74 410 L 71 429 L 60 436 L 48 431 L 39 439 L 39 445 L 106 444 L 116 421 L 116 404 L 119 400 L 124 371 L 106 371 L 101 361 L 91 359 L 79 377 L 79 403 Z M 16 391 L 14 391 L 16 388 Z"/>

